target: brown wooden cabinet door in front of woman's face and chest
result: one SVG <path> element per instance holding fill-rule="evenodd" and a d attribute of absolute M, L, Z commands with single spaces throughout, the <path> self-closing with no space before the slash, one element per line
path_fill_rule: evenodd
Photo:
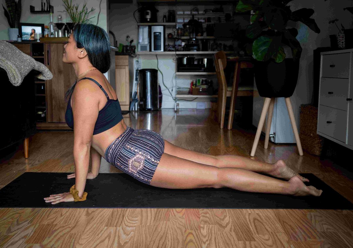
<path fill-rule="evenodd" d="M 47 43 L 47 67 L 53 78 L 47 80 L 48 122 L 65 122 L 65 93 L 74 83 L 76 74 L 71 64 L 62 62 L 64 43 Z"/>

